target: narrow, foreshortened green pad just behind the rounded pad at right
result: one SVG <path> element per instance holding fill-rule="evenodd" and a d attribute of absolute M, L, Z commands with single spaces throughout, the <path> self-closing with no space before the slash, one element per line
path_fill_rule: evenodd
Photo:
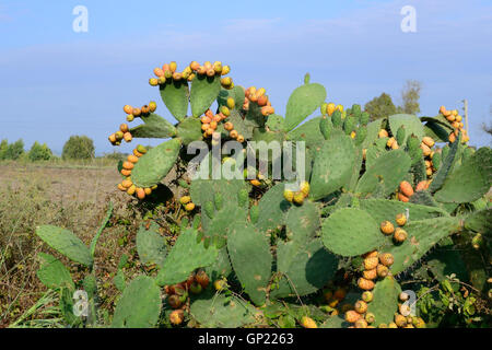
<path fill-rule="evenodd" d="M 448 213 L 441 208 L 413 205 L 409 202 L 406 203 L 397 200 L 363 199 L 360 201 L 360 205 L 361 209 L 368 212 L 378 223 L 385 220 L 394 222 L 396 215 L 399 213 L 406 213 L 407 209 L 409 212 L 409 222 L 413 220 L 448 217 Z"/>

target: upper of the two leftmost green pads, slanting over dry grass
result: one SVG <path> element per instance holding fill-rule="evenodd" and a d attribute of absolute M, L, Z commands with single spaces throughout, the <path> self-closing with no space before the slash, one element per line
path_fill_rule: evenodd
<path fill-rule="evenodd" d="M 92 267 L 93 258 L 91 252 L 71 231 L 54 225 L 43 225 L 36 228 L 36 234 L 47 245 L 69 259 Z"/>

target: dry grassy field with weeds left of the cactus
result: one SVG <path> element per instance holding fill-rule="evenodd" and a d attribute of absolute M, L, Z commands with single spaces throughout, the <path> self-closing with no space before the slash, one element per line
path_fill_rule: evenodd
<path fill-rule="evenodd" d="M 109 200 L 114 211 L 96 250 L 96 273 L 102 282 L 102 303 L 112 307 L 110 283 L 122 254 L 131 262 L 141 215 L 130 197 L 116 189 L 120 175 L 116 162 L 0 163 L 0 327 L 57 326 L 50 295 L 36 302 L 47 289 L 36 277 L 39 252 L 52 254 L 71 267 L 77 281 L 78 267 L 51 250 L 35 235 L 40 224 L 54 224 L 74 232 L 89 244 L 106 214 Z M 128 248 L 127 248 L 128 247 Z"/>

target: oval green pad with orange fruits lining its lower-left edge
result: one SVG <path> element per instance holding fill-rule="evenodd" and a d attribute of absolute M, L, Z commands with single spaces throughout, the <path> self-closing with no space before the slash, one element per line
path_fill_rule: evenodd
<path fill-rule="evenodd" d="M 142 188 L 159 184 L 175 164 L 180 147 L 179 139 L 171 139 L 149 150 L 131 171 L 133 184 Z"/>

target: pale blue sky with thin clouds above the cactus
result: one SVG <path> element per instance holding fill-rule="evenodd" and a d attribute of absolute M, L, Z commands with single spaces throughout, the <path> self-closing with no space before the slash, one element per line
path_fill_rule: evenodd
<path fill-rule="evenodd" d="M 87 33 L 72 31 L 79 4 Z M 417 33 L 400 30 L 403 5 L 415 8 Z M 0 0 L 0 139 L 26 148 L 37 140 L 60 152 L 71 135 L 87 135 L 96 153 L 112 152 L 125 104 L 155 100 L 174 121 L 148 84 L 172 60 L 222 60 L 237 84 L 265 86 L 282 115 L 306 72 L 345 106 L 382 92 L 399 103 L 415 79 L 421 115 L 468 98 L 470 143 L 491 144 L 480 128 L 492 119 L 491 1 Z"/>

